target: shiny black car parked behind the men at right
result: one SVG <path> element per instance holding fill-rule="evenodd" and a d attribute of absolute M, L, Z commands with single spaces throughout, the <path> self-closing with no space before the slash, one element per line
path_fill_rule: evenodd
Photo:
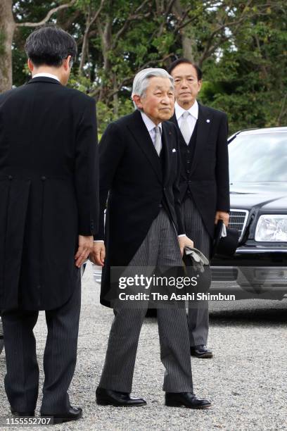
<path fill-rule="evenodd" d="M 287 127 L 244 130 L 229 139 L 231 212 L 240 231 L 232 258 L 212 260 L 213 289 L 238 298 L 287 294 Z M 239 289 L 238 289 L 239 287 Z"/>

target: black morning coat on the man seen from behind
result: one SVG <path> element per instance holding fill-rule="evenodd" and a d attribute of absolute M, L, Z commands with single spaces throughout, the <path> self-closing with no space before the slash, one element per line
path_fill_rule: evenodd
<path fill-rule="evenodd" d="M 0 95 L 0 308 L 51 310 L 98 230 L 95 101 L 49 77 Z"/>

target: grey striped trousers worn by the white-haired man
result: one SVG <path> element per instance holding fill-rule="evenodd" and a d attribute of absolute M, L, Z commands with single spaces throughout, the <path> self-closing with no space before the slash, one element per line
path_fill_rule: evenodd
<path fill-rule="evenodd" d="M 177 234 L 164 210 L 153 220 L 129 266 L 182 266 Z M 146 308 L 118 305 L 114 308 L 114 314 L 99 387 L 131 392 L 136 350 Z M 165 366 L 162 389 L 165 392 L 193 392 L 185 309 L 158 308 L 158 333 L 160 359 Z"/>

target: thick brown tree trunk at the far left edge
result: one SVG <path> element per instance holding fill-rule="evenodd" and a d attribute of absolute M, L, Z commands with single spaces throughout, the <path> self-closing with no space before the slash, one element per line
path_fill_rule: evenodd
<path fill-rule="evenodd" d="M 12 88 L 12 42 L 15 21 L 12 0 L 0 1 L 0 93 Z"/>

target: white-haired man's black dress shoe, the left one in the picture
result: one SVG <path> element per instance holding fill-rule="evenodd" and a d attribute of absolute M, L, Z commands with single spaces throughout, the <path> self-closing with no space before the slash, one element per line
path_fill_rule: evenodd
<path fill-rule="evenodd" d="M 100 406 L 134 407 L 145 406 L 146 401 L 143 398 L 132 398 L 129 396 L 129 392 L 117 392 L 97 387 L 96 404 L 100 404 Z"/>

